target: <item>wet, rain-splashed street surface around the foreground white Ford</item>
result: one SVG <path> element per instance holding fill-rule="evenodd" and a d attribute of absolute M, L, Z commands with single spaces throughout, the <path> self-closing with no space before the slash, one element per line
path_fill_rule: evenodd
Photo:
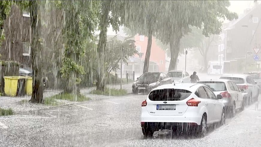
<path fill-rule="evenodd" d="M 261 106 L 252 104 L 206 137 L 145 138 L 141 102 L 147 95 L 99 99 L 0 117 L 0 146 L 258 146 Z"/>

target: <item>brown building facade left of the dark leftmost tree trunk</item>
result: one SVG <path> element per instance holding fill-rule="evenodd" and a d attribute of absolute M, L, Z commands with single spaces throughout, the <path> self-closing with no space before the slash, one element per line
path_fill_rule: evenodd
<path fill-rule="evenodd" d="M 29 13 L 22 13 L 12 6 L 10 15 L 4 20 L 5 40 L 2 42 L 1 60 L 30 64 L 31 19 Z"/>

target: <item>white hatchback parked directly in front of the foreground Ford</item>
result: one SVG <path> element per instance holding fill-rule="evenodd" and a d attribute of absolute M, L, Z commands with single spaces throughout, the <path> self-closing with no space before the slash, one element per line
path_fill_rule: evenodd
<path fill-rule="evenodd" d="M 236 110 L 244 110 L 245 101 L 242 94 L 244 89 L 239 89 L 236 83 L 232 80 L 201 80 L 197 83 L 206 85 L 215 93 L 215 95 L 222 95 L 222 102 L 226 107 L 226 112 L 229 113 L 232 117 L 235 116 Z"/>

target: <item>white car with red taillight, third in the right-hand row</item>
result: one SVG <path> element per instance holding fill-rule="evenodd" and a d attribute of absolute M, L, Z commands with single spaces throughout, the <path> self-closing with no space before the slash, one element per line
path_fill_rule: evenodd
<path fill-rule="evenodd" d="M 257 101 L 259 95 L 259 86 L 252 76 L 247 74 L 225 74 L 220 79 L 229 79 L 236 83 L 239 89 L 244 89 L 247 93 L 248 103 Z"/>

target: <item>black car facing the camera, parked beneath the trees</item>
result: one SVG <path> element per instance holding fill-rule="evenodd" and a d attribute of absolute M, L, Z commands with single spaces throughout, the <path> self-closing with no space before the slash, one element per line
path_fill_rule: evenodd
<path fill-rule="evenodd" d="M 132 92 L 137 94 L 140 92 L 150 92 L 159 85 L 171 84 L 173 81 L 163 72 L 146 72 L 143 73 L 132 84 Z"/>

